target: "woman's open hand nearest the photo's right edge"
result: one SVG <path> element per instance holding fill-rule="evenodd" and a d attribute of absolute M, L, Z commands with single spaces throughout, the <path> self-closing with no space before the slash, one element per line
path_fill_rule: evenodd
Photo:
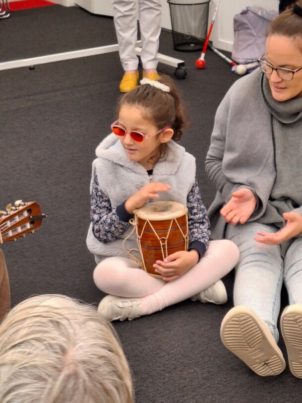
<path fill-rule="evenodd" d="M 302 216 L 295 212 L 284 213 L 285 226 L 278 232 L 269 233 L 258 231 L 254 240 L 265 245 L 279 245 L 287 239 L 294 238 L 302 232 Z"/>

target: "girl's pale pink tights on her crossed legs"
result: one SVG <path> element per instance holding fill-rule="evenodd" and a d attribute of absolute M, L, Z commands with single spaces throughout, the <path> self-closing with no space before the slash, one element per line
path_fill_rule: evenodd
<path fill-rule="evenodd" d="M 173 281 L 150 276 L 122 257 L 103 260 L 93 273 L 97 287 L 120 297 L 142 297 L 142 315 L 161 311 L 207 289 L 237 264 L 238 247 L 229 240 L 210 241 L 209 248 L 197 263 Z"/>

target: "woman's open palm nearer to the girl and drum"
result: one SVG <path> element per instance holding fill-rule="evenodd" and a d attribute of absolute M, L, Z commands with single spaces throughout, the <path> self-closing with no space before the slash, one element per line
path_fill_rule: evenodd
<path fill-rule="evenodd" d="M 233 225 L 244 224 L 256 207 L 256 197 L 250 189 L 243 188 L 232 193 L 232 197 L 222 209 L 220 214 L 226 222 Z"/>

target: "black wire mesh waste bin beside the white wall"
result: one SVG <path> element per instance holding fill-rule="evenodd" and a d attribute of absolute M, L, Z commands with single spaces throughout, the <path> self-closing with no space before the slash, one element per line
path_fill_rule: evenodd
<path fill-rule="evenodd" d="M 170 7 L 174 49 L 195 52 L 207 36 L 211 0 L 167 0 Z"/>

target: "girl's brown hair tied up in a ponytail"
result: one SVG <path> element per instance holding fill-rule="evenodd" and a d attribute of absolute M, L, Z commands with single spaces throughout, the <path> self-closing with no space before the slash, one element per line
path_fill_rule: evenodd
<path fill-rule="evenodd" d="M 173 79 L 168 75 L 161 75 L 159 82 L 168 85 L 170 92 L 150 84 L 142 84 L 121 97 L 119 109 L 124 105 L 142 108 L 145 119 L 152 122 L 158 130 L 169 126 L 174 130 L 172 139 L 178 141 L 182 130 L 189 124 L 187 112 Z"/>

